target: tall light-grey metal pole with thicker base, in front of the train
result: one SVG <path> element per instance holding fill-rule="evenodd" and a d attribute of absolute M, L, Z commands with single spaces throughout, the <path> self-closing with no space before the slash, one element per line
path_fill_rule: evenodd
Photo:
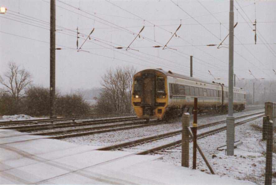
<path fill-rule="evenodd" d="M 234 65 L 234 0 L 230 0 L 229 12 L 229 81 L 228 116 L 226 130 L 227 155 L 234 155 L 235 118 L 233 117 L 233 65 Z"/>

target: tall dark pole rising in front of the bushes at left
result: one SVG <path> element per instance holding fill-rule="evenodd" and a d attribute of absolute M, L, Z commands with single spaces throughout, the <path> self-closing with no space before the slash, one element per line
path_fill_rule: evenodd
<path fill-rule="evenodd" d="M 56 5 L 50 2 L 50 118 L 55 116 Z"/>

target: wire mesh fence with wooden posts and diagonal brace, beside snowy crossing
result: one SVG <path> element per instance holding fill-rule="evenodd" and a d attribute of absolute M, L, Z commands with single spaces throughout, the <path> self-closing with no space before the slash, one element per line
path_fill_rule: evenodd
<path fill-rule="evenodd" d="M 181 165 L 193 168 L 189 119 L 188 113 L 183 114 Z M 226 130 L 204 135 L 207 132 L 197 133 L 196 169 L 260 185 L 276 184 L 276 128 L 268 117 L 235 127 L 234 155 L 227 155 Z"/>

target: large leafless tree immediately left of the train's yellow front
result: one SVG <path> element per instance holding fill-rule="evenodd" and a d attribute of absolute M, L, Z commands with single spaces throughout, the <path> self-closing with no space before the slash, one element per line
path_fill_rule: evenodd
<path fill-rule="evenodd" d="M 102 76 L 101 82 L 104 88 L 100 98 L 97 98 L 97 112 L 131 112 L 131 89 L 135 72 L 136 70 L 133 66 L 117 67 L 106 71 L 104 76 Z"/>

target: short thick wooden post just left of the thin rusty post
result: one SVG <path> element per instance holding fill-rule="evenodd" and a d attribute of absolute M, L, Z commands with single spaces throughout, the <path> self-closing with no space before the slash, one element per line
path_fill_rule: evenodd
<path fill-rule="evenodd" d="M 181 151 L 181 166 L 189 168 L 189 127 L 190 114 L 182 114 L 182 151 Z"/>

